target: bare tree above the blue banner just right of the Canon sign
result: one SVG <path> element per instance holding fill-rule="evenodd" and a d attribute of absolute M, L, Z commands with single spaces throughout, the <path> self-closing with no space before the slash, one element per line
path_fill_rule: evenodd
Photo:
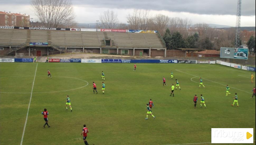
<path fill-rule="evenodd" d="M 128 14 L 127 20 L 129 22 L 129 28 L 131 29 L 139 29 L 140 27 L 140 18 L 141 18 L 141 10 L 134 9 L 132 14 Z"/>

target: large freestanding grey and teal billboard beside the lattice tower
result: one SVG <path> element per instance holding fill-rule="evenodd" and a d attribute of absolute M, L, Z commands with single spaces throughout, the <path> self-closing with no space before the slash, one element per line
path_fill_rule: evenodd
<path fill-rule="evenodd" d="M 221 47 L 220 57 L 231 59 L 248 59 L 248 49 Z"/>

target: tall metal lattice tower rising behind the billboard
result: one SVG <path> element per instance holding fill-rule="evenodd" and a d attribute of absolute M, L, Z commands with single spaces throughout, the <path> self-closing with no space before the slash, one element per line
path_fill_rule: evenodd
<path fill-rule="evenodd" d="M 236 10 L 236 36 L 235 36 L 235 48 L 239 47 L 239 38 L 240 38 L 240 21 L 241 21 L 241 0 L 237 1 L 237 10 Z"/>

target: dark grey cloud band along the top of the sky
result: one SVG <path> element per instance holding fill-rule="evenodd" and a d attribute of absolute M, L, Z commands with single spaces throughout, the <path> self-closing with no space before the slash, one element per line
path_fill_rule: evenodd
<path fill-rule="evenodd" d="M 2 4 L 29 4 L 29 0 L 8 0 Z M 237 0 L 73 0 L 75 5 L 93 7 L 150 9 L 196 14 L 236 15 Z M 255 15 L 255 0 L 242 0 L 241 15 Z"/>

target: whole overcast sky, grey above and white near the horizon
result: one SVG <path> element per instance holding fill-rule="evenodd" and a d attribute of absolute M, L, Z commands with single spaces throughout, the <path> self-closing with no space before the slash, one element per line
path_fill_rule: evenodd
<path fill-rule="evenodd" d="M 237 0 L 73 0 L 75 21 L 95 23 L 99 15 L 114 10 L 119 22 L 126 23 L 126 16 L 133 9 L 148 9 L 151 15 L 189 18 L 193 24 L 213 23 L 235 26 Z M 26 13 L 36 19 L 29 0 L 2 1 L 0 11 Z M 241 26 L 255 26 L 255 0 L 242 0 Z"/>

